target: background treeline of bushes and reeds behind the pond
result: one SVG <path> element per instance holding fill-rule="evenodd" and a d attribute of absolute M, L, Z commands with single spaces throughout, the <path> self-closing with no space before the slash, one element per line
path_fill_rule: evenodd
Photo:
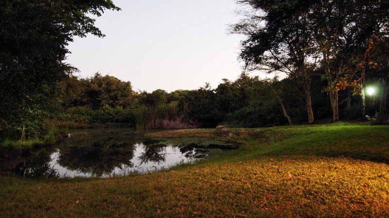
<path fill-rule="evenodd" d="M 312 79 L 312 108 L 318 120 L 331 118 L 327 82 Z M 125 124 L 141 128 L 258 127 L 304 124 L 304 90 L 293 78 L 267 79 L 242 73 L 234 81 L 224 79 L 216 88 L 167 93 L 135 92 L 130 82 L 95 74 L 92 78 L 69 77 L 61 82 L 62 100 L 52 119 L 83 124 Z M 360 95 L 342 91 L 340 114 L 344 120 L 363 118 Z M 380 102 L 369 96 L 367 111 L 374 114 Z M 290 122 L 288 121 L 290 118 Z"/>

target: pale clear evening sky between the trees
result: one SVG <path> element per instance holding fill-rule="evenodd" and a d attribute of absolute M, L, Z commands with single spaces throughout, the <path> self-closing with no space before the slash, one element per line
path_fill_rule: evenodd
<path fill-rule="evenodd" d="M 235 0 L 114 0 L 121 11 L 96 18 L 105 38 L 75 38 L 67 62 L 77 76 L 96 72 L 131 81 L 133 89 L 198 89 L 236 79 L 243 36 L 229 34 L 240 18 Z"/>

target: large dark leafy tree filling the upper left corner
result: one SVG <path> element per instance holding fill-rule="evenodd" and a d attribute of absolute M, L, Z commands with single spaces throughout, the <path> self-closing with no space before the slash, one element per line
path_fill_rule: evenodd
<path fill-rule="evenodd" d="M 1 1 L 0 128 L 28 125 L 36 108 L 46 108 L 58 81 L 75 70 L 64 62 L 66 46 L 74 36 L 103 37 L 89 16 L 105 10 L 120 8 L 111 0 Z"/>

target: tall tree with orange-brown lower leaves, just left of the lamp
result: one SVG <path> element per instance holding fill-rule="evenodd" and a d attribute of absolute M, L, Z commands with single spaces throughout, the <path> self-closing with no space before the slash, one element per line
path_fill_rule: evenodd
<path fill-rule="evenodd" d="M 328 81 L 333 120 L 339 120 L 338 91 L 363 87 L 370 64 L 371 41 L 388 29 L 388 1 L 382 0 L 293 0 L 283 1 L 293 18 L 309 12 L 313 47 L 321 59 L 323 78 Z M 284 23 L 287 25 L 287 23 Z M 385 30 L 386 29 L 386 30 Z"/>

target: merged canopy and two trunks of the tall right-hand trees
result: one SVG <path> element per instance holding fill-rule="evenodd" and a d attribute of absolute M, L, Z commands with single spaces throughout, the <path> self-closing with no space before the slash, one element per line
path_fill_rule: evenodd
<path fill-rule="evenodd" d="M 238 0 L 246 18 L 232 31 L 247 36 L 240 58 L 249 69 L 283 72 L 304 87 L 309 123 L 313 122 L 310 82 L 328 82 L 333 120 L 339 120 L 338 91 L 359 92 L 374 63 L 376 39 L 388 37 L 388 1 L 382 0 Z M 372 66 L 373 68 L 375 66 Z"/>

